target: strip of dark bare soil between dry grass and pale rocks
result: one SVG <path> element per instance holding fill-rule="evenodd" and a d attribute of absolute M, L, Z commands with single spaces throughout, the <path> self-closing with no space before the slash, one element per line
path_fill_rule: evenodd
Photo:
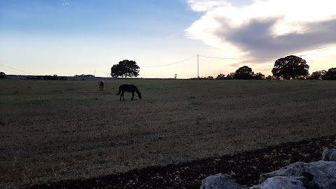
<path fill-rule="evenodd" d="M 165 167 L 134 169 L 94 179 L 59 181 L 35 188 L 200 188 L 202 179 L 212 174 L 231 174 L 237 183 L 258 184 L 259 175 L 293 162 L 321 160 L 323 147 L 336 148 L 336 135 L 283 143 L 255 151 L 183 162 Z M 27 188 L 28 189 L 28 188 Z"/>

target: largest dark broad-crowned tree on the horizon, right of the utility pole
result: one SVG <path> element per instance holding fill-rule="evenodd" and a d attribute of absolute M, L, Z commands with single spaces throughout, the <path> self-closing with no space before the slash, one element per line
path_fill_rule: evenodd
<path fill-rule="evenodd" d="M 276 78 L 305 78 L 308 76 L 308 70 L 309 66 L 304 59 L 290 55 L 284 58 L 276 59 L 272 73 Z"/>

